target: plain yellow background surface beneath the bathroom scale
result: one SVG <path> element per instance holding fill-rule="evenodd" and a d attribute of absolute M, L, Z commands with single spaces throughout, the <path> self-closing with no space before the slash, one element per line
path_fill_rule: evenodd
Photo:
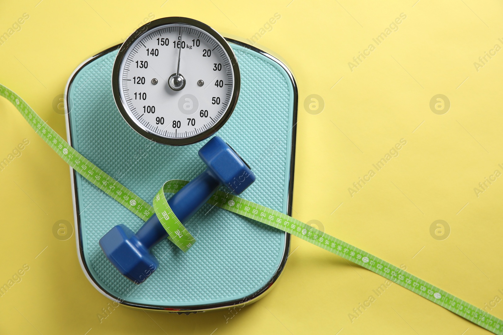
<path fill-rule="evenodd" d="M 473 63 L 503 47 L 503 4 L 414 2 L 4 1 L 0 33 L 23 13 L 30 18 L 0 46 L 0 82 L 66 138 L 54 97 L 77 65 L 120 43 L 150 13 L 191 17 L 242 41 L 279 13 L 257 46 L 281 56 L 298 83 L 294 216 L 317 219 L 328 234 L 483 307 L 503 298 L 503 178 L 479 197 L 473 190 L 503 172 L 503 51 L 479 71 Z M 407 17 L 398 31 L 376 46 L 372 38 L 400 13 Z M 371 43 L 376 50 L 351 71 L 348 62 Z M 444 115 L 429 107 L 439 93 L 451 102 Z M 317 115 L 303 107 L 310 94 L 324 100 Z M 227 322 L 228 311 L 120 306 L 100 323 L 110 301 L 80 270 L 74 236 L 52 234 L 57 220 L 73 223 L 68 166 L 5 99 L 0 120 L 1 159 L 30 141 L 0 172 L 0 284 L 30 266 L 0 297 L 0 333 L 487 333 L 394 284 L 352 323 L 348 313 L 385 280 L 296 238 L 275 288 Z M 353 182 L 401 138 L 399 156 L 351 197 Z M 450 226 L 446 240 L 430 235 L 437 219 Z M 490 312 L 503 318 L 503 303 Z"/>

